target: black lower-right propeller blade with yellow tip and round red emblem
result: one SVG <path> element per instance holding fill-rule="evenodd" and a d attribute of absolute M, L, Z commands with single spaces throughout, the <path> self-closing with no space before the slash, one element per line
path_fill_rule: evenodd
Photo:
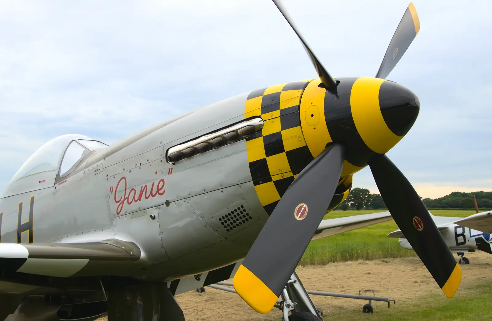
<path fill-rule="evenodd" d="M 429 211 L 406 177 L 386 156 L 369 161 L 376 185 L 401 232 L 447 297 L 461 282 L 461 269 Z"/>

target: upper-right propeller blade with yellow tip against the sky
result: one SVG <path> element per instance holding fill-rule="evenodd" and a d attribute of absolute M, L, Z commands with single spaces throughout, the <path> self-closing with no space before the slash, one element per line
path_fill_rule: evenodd
<path fill-rule="evenodd" d="M 408 49 L 417 33 L 419 33 L 419 30 L 419 16 L 417 15 L 415 6 L 410 2 L 400 20 L 400 24 L 398 25 L 393 38 L 391 39 L 390 45 L 386 50 L 386 54 L 377 71 L 376 78 L 386 79 L 386 77 L 388 77 L 391 70 L 398 64 L 400 58 Z"/>

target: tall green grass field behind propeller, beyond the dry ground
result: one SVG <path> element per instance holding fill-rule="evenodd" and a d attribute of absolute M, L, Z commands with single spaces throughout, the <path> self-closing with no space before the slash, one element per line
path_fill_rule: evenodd
<path fill-rule="evenodd" d="M 384 211 L 332 211 L 324 219 L 353 216 Z M 475 211 L 431 211 L 435 216 L 467 217 Z M 388 233 L 397 230 L 392 220 L 376 225 L 359 228 L 338 235 L 314 240 L 301 258 L 301 265 L 324 265 L 330 262 L 350 261 L 359 259 L 379 259 L 387 257 L 415 256 L 412 250 L 403 249 L 398 239 L 388 238 Z"/>

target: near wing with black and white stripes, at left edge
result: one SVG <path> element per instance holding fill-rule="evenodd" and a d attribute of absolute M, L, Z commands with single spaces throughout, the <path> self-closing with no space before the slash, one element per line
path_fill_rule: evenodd
<path fill-rule="evenodd" d="M 117 239 L 88 243 L 0 243 L 2 271 L 52 277 L 80 275 L 85 268 L 95 273 L 99 270 L 100 274 L 104 264 L 111 261 L 134 262 L 140 257 L 140 248 L 135 243 Z"/>

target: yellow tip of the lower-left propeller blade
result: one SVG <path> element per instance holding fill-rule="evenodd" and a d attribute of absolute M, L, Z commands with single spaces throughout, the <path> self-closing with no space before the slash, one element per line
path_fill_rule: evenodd
<path fill-rule="evenodd" d="M 269 313 L 277 303 L 278 296 L 243 264 L 232 282 L 239 296 L 258 313 Z"/>

